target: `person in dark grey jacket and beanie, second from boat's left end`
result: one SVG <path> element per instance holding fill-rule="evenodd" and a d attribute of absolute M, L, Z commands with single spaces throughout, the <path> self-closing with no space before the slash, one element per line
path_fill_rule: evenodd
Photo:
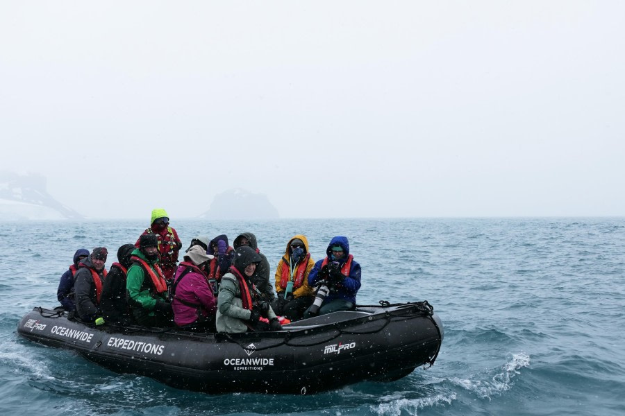
<path fill-rule="evenodd" d="M 74 291 L 76 292 L 76 313 L 85 322 L 104 323 L 99 308 L 102 286 L 106 278 L 106 247 L 94 248 L 86 259 L 78 263 Z"/>

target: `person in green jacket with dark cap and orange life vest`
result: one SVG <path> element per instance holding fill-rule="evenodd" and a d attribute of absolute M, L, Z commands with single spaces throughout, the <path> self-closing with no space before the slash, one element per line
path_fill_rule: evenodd
<path fill-rule="evenodd" d="M 126 278 L 126 297 L 135 321 L 146 327 L 173 326 L 172 304 L 167 299 L 167 283 L 160 270 L 158 239 L 144 234 L 131 256 Z"/>

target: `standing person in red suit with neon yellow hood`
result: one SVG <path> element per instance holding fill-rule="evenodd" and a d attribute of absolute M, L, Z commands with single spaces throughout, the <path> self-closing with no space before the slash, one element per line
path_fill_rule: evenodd
<path fill-rule="evenodd" d="M 178 233 L 173 227 L 169 227 L 169 216 L 163 208 L 152 209 L 150 227 L 142 236 L 153 234 L 158 238 L 158 253 L 160 255 L 160 268 L 163 270 L 165 280 L 174 278 L 178 263 L 178 252 L 182 248 L 182 242 L 178 238 Z M 135 243 L 139 248 L 139 240 Z"/>

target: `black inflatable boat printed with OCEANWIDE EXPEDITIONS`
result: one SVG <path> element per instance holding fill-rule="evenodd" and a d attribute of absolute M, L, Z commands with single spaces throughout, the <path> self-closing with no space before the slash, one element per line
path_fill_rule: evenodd
<path fill-rule="evenodd" d="M 363 380 L 401 379 L 432 365 L 443 328 L 427 302 L 358 306 L 263 333 L 190 333 L 177 329 L 93 327 L 63 311 L 35 308 L 19 335 L 76 350 L 115 372 L 152 377 L 208 393 L 306 394 Z"/>

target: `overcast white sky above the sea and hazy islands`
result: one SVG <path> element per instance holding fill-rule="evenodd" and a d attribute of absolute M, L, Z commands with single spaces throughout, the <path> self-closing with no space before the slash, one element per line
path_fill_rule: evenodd
<path fill-rule="evenodd" d="M 2 1 L 2 168 L 96 218 L 625 215 L 624 1 Z"/>

